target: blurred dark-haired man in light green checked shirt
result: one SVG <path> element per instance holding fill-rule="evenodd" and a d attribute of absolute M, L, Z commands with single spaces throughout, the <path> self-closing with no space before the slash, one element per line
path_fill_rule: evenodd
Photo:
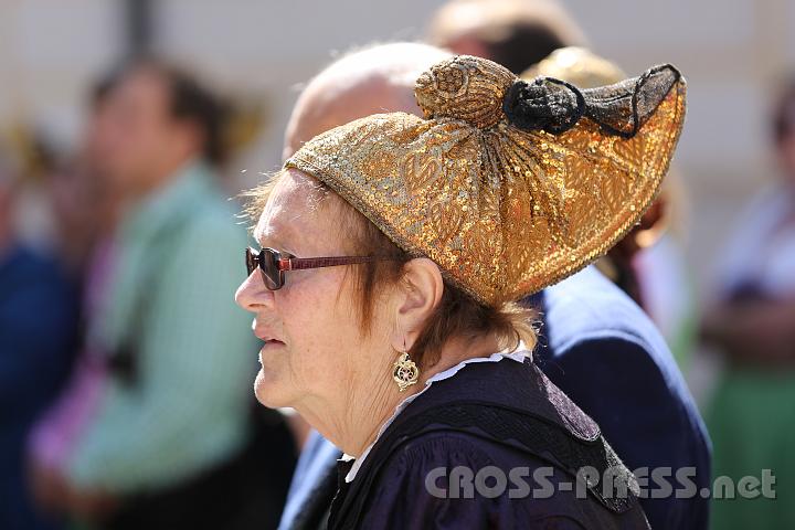
<path fill-rule="evenodd" d="M 295 453 L 279 416 L 252 415 L 224 105 L 142 59 L 103 106 L 95 162 L 128 205 L 86 337 L 109 375 L 59 477 L 64 508 L 104 528 L 273 527 Z"/>

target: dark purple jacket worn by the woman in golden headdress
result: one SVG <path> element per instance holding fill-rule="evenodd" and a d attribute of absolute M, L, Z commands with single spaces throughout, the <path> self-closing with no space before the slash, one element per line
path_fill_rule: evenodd
<path fill-rule="evenodd" d="M 504 358 L 412 401 L 340 483 L 328 528 L 649 530 L 633 489 L 596 423 L 532 361 Z"/>

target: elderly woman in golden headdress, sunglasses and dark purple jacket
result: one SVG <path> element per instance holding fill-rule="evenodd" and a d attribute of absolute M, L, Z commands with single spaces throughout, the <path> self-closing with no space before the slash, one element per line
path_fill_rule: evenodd
<path fill-rule="evenodd" d="M 580 91 L 459 56 L 425 119 L 307 142 L 255 191 L 236 299 L 265 342 L 256 395 L 346 452 L 328 526 L 648 528 L 598 426 L 531 362 L 515 300 L 637 222 L 679 137 L 671 66 Z"/>

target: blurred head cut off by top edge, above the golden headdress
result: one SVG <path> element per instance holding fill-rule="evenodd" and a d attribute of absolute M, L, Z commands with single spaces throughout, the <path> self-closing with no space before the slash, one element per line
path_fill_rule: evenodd
<path fill-rule="evenodd" d="M 434 15 L 428 42 L 490 59 L 519 75 L 554 50 L 585 38 L 554 0 L 453 0 Z"/>

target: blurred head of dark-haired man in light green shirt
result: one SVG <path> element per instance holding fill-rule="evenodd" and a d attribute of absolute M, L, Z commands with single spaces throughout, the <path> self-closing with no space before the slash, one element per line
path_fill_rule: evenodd
<path fill-rule="evenodd" d="M 91 127 L 102 171 L 132 192 L 146 192 L 194 158 L 220 163 L 223 105 L 193 77 L 145 60 L 114 78 Z"/>

